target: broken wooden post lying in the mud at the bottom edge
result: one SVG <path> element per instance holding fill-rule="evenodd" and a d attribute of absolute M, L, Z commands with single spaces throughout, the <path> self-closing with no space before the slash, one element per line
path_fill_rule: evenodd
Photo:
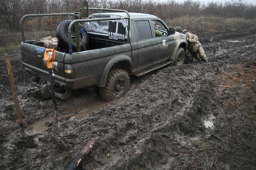
<path fill-rule="evenodd" d="M 87 142 L 86 146 L 73 158 L 65 170 L 75 170 L 79 167 L 80 163 L 84 159 L 84 156 L 88 155 L 93 149 L 94 140 L 91 139 Z"/>

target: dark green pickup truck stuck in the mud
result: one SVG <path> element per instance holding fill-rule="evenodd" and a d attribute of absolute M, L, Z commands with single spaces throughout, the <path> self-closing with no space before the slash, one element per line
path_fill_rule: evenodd
<path fill-rule="evenodd" d="M 84 29 L 89 40 L 84 50 L 73 52 L 72 44 L 69 44 L 69 51 L 56 50 L 52 63 L 56 97 L 66 99 L 72 90 L 96 86 L 103 99 L 115 100 L 128 91 L 130 75 L 141 76 L 167 64 L 184 64 L 186 36 L 175 32 L 175 28 L 168 28 L 159 17 L 125 10 L 97 10 L 110 12 L 95 13 L 88 19 L 70 21 L 70 25 L 75 22 L 86 23 Z M 68 33 L 71 28 L 69 26 Z M 33 84 L 46 92 L 49 89 L 46 88 L 49 76 L 44 61 L 46 48 L 33 45 L 34 41 L 25 41 L 22 34 L 23 66 L 35 75 Z M 72 40 L 70 35 L 68 38 Z M 44 80 L 41 81 L 44 84 L 40 84 L 39 80 Z M 60 88 L 65 89 L 65 92 L 58 92 Z"/>

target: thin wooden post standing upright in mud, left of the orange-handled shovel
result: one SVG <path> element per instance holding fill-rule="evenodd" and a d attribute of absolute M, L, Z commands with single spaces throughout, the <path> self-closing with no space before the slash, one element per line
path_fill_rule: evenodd
<path fill-rule="evenodd" d="M 4 59 L 6 62 L 6 67 L 7 67 L 7 71 L 8 71 L 8 75 L 9 75 L 9 79 L 10 79 L 12 97 L 13 97 L 14 104 L 15 104 L 15 111 L 16 111 L 16 114 L 18 117 L 19 126 L 21 127 L 21 132 L 23 134 L 25 134 L 24 127 L 23 127 L 23 121 L 22 121 L 21 108 L 19 107 L 19 99 L 18 99 L 18 95 L 17 95 L 17 91 L 16 91 L 13 74 L 12 74 L 12 67 L 11 67 L 11 61 L 10 61 L 9 54 L 4 54 Z"/>

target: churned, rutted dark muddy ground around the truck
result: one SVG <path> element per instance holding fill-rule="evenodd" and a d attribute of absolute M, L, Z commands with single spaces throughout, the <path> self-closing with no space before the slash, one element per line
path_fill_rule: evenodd
<path fill-rule="evenodd" d="M 80 169 L 255 170 L 256 30 L 198 36 L 207 63 L 132 76 L 127 95 L 110 103 L 86 89 L 58 100 L 60 114 L 80 113 L 60 122 L 59 134 L 39 125 L 55 116 L 51 100 L 30 85 L 17 51 L 11 64 L 26 126 L 20 135 L 1 56 L 0 169 L 63 169 L 93 138 Z"/>

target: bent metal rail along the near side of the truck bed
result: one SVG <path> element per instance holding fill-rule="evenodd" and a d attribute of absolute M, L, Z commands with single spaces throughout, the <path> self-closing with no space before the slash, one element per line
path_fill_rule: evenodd
<path fill-rule="evenodd" d="M 94 18 L 94 19 L 77 19 L 72 21 L 68 26 L 68 47 L 69 47 L 69 54 L 72 54 L 72 44 L 71 44 L 71 30 L 72 26 L 75 23 L 85 23 L 85 22 L 92 22 L 92 21 L 112 21 L 112 20 L 119 20 L 119 19 L 129 19 L 129 17 L 114 17 L 114 18 Z M 128 39 L 129 35 L 127 35 Z M 127 40 L 128 41 L 128 40 Z"/>

